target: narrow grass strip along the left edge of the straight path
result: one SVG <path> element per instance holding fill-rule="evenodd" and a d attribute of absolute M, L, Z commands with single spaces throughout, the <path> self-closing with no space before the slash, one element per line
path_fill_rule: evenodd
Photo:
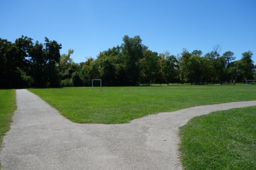
<path fill-rule="evenodd" d="M 12 122 L 12 115 L 15 110 L 15 89 L 0 89 L 0 147 L 4 134 L 10 130 L 10 122 Z"/>

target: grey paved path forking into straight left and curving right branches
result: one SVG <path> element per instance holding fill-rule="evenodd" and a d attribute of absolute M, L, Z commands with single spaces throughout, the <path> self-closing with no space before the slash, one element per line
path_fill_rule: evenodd
<path fill-rule="evenodd" d="M 121 125 L 77 124 L 33 93 L 16 90 L 18 109 L 4 136 L 2 169 L 181 169 L 178 127 L 194 116 L 256 101 L 204 105 Z"/>

